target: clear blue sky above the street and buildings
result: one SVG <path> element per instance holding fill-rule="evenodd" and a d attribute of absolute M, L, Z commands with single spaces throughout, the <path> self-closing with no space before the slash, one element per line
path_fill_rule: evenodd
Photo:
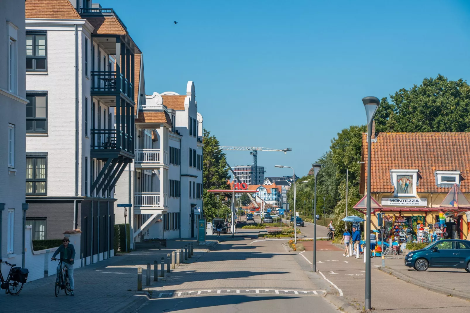
<path fill-rule="evenodd" d="M 193 80 L 222 145 L 292 148 L 259 152 L 267 176 L 290 173 L 275 164 L 306 174 L 341 129 L 365 123 L 362 97 L 470 73 L 467 1 L 100 3 L 144 53 L 147 94 L 184 94 Z M 251 164 L 247 151 L 227 158 Z"/>

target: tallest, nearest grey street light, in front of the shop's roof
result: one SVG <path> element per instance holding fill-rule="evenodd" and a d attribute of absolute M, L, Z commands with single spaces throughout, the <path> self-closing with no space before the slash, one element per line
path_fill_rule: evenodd
<path fill-rule="evenodd" d="M 374 115 L 380 105 L 380 100 L 377 97 L 364 97 L 362 98 L 364 108 L 366 109 L 367 117 L 367 217 L 366 217 L 366 248 L 364 252 L 366 258 L 366 299 L 365 309 L 370 311 L 370 149 L 371 149 L 371 136 L 372 136 L 372 121 Z"/>

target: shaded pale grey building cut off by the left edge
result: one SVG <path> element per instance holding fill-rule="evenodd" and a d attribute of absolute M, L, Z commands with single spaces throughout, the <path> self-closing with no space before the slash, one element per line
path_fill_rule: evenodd
<path fill-rule="evenodd" d="M 23 244 L 24 1 L 0 2 L 0 259 L 21 266 Z M 9 266 L 0 266 L 4 277 Z"/>

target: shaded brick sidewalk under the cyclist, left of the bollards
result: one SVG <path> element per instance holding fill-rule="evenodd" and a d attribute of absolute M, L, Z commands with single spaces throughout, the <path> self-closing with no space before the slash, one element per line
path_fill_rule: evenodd
<path fill-rule="evenodd" d="M 74 313 L 80 312 L 119 312 L 138 297 L 137 267 L 144 269 L 147 263 L 166 258 L 166 254 L 179 247 L 180 241 L 169 240 L 168 247 L 174 249 L 143 250 L 122 255 L 75 269 L 75 297 L 66 296 L 63 290 L 55 297 L 55 274 L 24 285 L 19 296 L 0 293 L 1 312 L 49 313 L 71 307 Z M 195 243 L 185 240 L 184 244 Z M 184 245 L 183 244 L 183 245 Z M 195 246 L 195 254 L 202 255 L 209 246 Z M 153 272 L 153 271 L 152 271 Z M 145 270 L 142 271 L 145 284 Z M 153 273 L 152 279 L 153 283 Z M 5 310 L 5 311 L 4 311 Z"/>

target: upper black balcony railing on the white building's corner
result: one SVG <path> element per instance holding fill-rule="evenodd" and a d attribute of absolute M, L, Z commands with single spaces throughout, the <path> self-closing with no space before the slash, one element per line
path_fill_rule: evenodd
<path fill-rule="evenodd" d="M 112 94 L 119 91 L 134 100 L 133 84 L 122 73 L 117 75 L 115 70 L 92 70 L 91 78 L 92 92 Z"/>

